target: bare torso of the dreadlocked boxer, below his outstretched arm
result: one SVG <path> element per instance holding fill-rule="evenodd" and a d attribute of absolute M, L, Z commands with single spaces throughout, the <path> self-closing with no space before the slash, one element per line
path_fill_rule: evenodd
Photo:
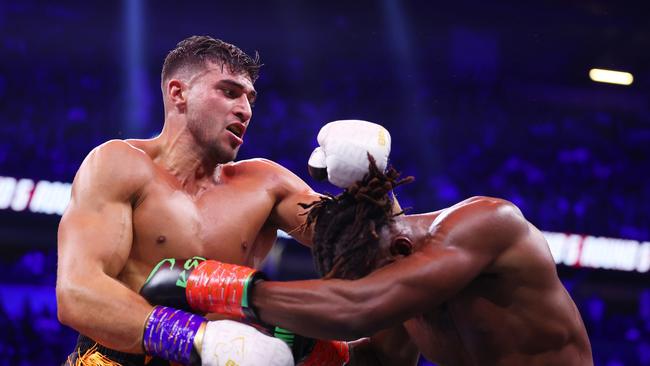
<path fill-rule="evenodd" d="M 404 323 L 425 357 L 461 366 L 592 365 L 580 315 L 542 234 L 530 228 L 452 299 Z"/>

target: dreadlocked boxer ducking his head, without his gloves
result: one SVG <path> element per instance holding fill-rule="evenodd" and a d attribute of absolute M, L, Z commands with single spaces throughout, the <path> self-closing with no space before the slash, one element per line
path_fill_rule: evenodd
<path fill-rule="evenodd" d="M 370 341 L 382 365 L 593 365 L 587 333 L 542 233 L 512 203 L 474 197 L 393 215 L 399 180 L 371 173 L 309 205 L 320 280 L 252 285 L 261 321 L 325 339 Z M 210 283 L 212 291 L 227 283 Z M 390 330 L 386 330 L 390 329 Z M 380 335 L 380 336 L 378 336 Z"/>

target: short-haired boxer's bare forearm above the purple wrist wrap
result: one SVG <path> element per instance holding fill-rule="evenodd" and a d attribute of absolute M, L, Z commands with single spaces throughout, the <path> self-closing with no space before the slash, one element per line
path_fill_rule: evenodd
<path fill-rule="evenodd" d="M 117 351 L 143 353 L 142 332 L 152 306 L 117 280 L 105 274 L 60 279 L 57 305 L 63 324 Z"/>

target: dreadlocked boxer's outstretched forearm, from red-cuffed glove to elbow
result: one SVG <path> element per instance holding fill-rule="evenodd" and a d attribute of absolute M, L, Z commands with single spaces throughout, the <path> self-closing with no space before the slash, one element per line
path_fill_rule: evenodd
<path fill-rule="evenodd" d="M 261 282 L 254 286 L 252 304 L 263 321 L 298 334 L 357 339 L 401 324 L 448 298 L 451 291 L 431 280 L 429 267 L 434 264 L 418 252 L 353 281 Z"/>

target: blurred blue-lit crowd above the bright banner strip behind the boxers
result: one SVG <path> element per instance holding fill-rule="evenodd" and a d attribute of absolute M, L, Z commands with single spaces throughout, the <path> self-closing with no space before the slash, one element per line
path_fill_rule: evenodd
<path fill-rule="evenodd" d="M 25 44 L 6 42 L 3 51 L 11 57 L 0 60 L 0 70 L 18 70 L 0 72 L 2 175 L 70 182 L 98 144 L 149 138 L 162 127 L 154 71 L 146 86 L 156 101 L 150 120 L 127 136 L 127 104 L 105 63 L 71 72 L 61 55 L 37 67 Z M 36 70 L 16 66 L 21 62 Z M 369 119 L 391 131 L 395 167 L 416 177 L 399 192 L 413 212 L 491 195 L 519 205 L 543 230 L 650 238 L 647 108 L 572 105 L 549 97 L 553 89 L 520 90 L 505 82 L 456 85 L 423 76 L 400 86 L 390 75 L 379 79 L 372 65 L 317 66 L 320 75 L 337 76 L 307 75 L 297 61 L 267 67 L 256 85 L 260 97 L 240 158 L 270 158 L 312 183 L 304 162 L 319 127 L 334 119 Z M 391 83 L 397 85 L 386 86 Z M 402 87 L 416 98 L 404 100 Z M 373 94 L 364 95 L 368 90 Z M 593 99 L 588 92 L 582 98 Z"/>

